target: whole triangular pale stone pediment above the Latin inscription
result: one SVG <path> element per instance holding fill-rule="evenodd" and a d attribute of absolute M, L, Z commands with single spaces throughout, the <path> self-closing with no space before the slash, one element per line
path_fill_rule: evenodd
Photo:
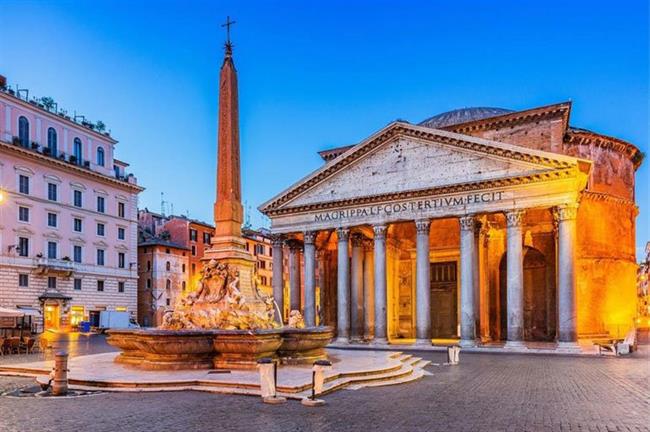
<path fill-rule="evenodd" d="M 468 183 L 589 170 L 580 160 L 453 132 L 395 122 L 350 148 L 260 210 L 343 202 Z"/>

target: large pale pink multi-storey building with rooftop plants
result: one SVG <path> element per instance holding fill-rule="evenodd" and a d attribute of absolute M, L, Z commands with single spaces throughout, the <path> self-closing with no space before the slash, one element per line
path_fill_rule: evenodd
<path fill-rule="evenodd" d="M 0 77 L 0 304 L 46 329 L 137 307 L 137 197 L 103 124 Z"/>

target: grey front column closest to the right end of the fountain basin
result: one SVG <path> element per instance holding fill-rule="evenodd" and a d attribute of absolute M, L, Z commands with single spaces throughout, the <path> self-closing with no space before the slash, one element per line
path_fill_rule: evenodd
<path fill-rule="evenodd" d="M 338 279 L 336 283 L 337 302 L 337 335 L 339 342 L 349 342 L 350 339 L 350 260 L 348 257 L 348 242 L 350 230 L 339 228 L 338 237 Z"/>

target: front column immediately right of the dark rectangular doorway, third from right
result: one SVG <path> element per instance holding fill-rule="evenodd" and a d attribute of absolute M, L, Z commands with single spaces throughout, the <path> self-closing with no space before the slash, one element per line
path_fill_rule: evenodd
<path fill-rule="evenodd" d="M 476 343 L 475 229 L 474 216 L 460 218 L 460 342 L 465 346 Z"/>

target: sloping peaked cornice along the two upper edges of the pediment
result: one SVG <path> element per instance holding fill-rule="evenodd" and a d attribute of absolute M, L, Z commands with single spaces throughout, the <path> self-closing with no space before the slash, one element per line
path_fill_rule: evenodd
<path fill-rule="evenodd" d="M 475 137 L 472 137 L 471 139 L 463 139 L 460 136 L 449 136 L 448 133 L 439 131 L 437 129 L 413 126 L 402 122 L 394 122 L 384 130 L 370 137 L 363 145 L 357 145 L 356 150 L 350 149 L 348 152 L 338 156 L 332 162 L 327 163 L 321 170 L 317 171 L 315 174 L 312 174 L 311 177 L 304 179 L 302 183 L 289 188 L 276 199 L 262 204 L 259 207 L 260 211 L 267 215 L 276 214 L 275 210 L 281 205 L 291 201 L 300 194 L 311 189 L 316 184 L 345 169 L 354 161 L 373 151 L 380 145 L 386 142 L 390 142 L 397 137 L 408 137 L 423 139 L 431 142 L 438 142 L 463 150 L 470 150 L 501 158 L 514 159 L 521 162 L 546 166 L 552 169 L 569 169 L 573 167 L 573 164 L 562 160 L 562 155 L 558 155 L 558 158 L 553 158 L 552 155 L 548 153 L 536 152 L 524 147 L 490 142 Z M 527 150 L 530 150 L 530 152 Z"/>

